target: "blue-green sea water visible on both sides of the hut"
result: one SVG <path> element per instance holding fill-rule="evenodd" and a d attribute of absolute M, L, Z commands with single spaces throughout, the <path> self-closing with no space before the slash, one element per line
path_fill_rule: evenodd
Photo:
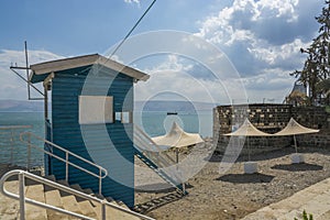
<path fill-rule="evenodd" d="M 164 135 L 177 122 L 186 132 L 199 133 L 202 138 L 212 135 L 212 111 L 177 112 L 167 116 L 167 112 L 134 112 L 134 123 L 142 128 L 150 136 Z M 28 151 L 28 144 L 20 140 L 22 132 L 33 132 L 35 135 L 45 136 L 43 112 L 0 112 L 0 127 L 31 125 L 29 129 L 3 130 L 0 129 L 0 164 L 26 166 L 43 165 L 43 153 L 36 148 Z M 13 132 L 12 132 L 13 131 Z M 26 136 L 25 136 L 26 140 Z M 42 142 L 32 144 L 43 147 Z M 31 161 L 28 162 L 28 155 Z"/>

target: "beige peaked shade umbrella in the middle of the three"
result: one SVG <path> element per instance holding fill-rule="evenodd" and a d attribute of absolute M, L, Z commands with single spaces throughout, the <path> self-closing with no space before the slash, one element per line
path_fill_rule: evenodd
<path fill-rule="evenodd" d="M 244 123 L 234 132 L 223 134 L 226 136 L 272 136 L 272 134 L 265 133 L 256 129 L 249 119 L 245 119 Z M 250 161 L 250 145 L 248 138 L 248 156 Z"/>

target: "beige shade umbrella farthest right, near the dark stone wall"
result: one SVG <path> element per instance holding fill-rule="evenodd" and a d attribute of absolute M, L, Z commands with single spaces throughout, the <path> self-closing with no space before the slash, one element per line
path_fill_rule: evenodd
<path fill-rule="evenodd" d="M 295 148 L 296 148 L 296 153 L 298 153 L 296 134 L 317 133 L 320 130 L 302 127 L 295 119 L 290 118 L 290 120 L 286 124 L 286 127 L 282 131 L 275 133 L 274 135 L 276 135 L 276 136 L 294 135 Z"/>

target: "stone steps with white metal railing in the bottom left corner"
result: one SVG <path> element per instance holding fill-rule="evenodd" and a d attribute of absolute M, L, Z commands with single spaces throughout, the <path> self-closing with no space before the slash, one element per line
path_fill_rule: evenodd
<path fill-rule="evenodd" d="M 13 195 L 19 195 L 22 178 L 18 178 L 18 176 L 21 174 L 24 175 L 23 178 L 25 179 L 25 187 L 23 188 L 26 201 L 24 216 L 28 220 L 152 219 L 131 211 L 120 201 L 95 195 L 90 189 L 81 189 L 79 185 L 69 186 L 65 180 L 56 182 L 54 176 L 44 178 L 20 169 L 9 172 L 2 176 L 0 182 L 2 194 L 11 198 L 14 198 Z M 15 199 L 19 198 L 15 197 Z M 34 205 L 31 202 L 32 200 L 34 200 Z M 38 206 L 40 204 L 43 206 Z M 0 194 L 0 207 L 1 219 L 20 218 L 19 201 L 6 198 Z M 51 209 L 50 207 L 54 208 Z M 63 210 L 70 212 L 70 216 L 64 213 Z"/>

